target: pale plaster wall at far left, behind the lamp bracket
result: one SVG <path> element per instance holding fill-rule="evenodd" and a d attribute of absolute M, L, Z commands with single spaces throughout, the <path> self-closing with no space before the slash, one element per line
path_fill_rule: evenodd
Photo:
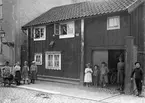
<path fill-rule="evenodd" d="M 16 17 L 14 5 L 17 4 L 16 0 L 3 0 L 3 20 L 2 28 L 5 31 L 4 42 L 14 42 L 16 34 Z M 0 63 L 2 64 L 6 60 L 10 61 L 11 64 L 14 62 L 14 48 L 10 48 L 6 45 L 2 45 L 2 54 L 0 55 Z"/>

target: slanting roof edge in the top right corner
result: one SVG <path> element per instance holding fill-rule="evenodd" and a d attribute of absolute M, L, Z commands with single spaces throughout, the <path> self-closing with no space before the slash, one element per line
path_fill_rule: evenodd
<path fill-rule="evenodd" d="M 138 6 L 140 6 L 145 0 L 136 0 L 135 2 L 133 2 L 131 5 L 129 5 L 127 7 L 128 9 L 128 13 L 131 13 L 132 11 L 134 11 Z"/>

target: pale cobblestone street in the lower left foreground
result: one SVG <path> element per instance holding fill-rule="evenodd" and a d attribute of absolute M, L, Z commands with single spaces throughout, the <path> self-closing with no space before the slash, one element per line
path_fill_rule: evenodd
<path fill-rule="evenodd" d="M 101 103 L 15 87 L 0 87 L 0 103 Z"/>

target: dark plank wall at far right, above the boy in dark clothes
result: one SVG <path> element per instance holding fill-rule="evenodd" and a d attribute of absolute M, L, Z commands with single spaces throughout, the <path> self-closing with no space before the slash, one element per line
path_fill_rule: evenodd
<path fill-rule="evenodd" d="M 144 68 L 144 4 L 136 8 L 131 14 L 131 36 L 134 37 L 134 45 L 138 48 L 138 61 Z"/>

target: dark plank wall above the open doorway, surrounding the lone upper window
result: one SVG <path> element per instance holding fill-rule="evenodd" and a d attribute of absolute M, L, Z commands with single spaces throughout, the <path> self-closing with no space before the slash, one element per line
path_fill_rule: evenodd
<path fill-rule="evenodd" d="M 120 16 L 120 29 L 107 30 L 107 17 Z M 85 19 L 85 63 L 91 62 L 92 50 L 125 49 L 125 37 L 130 34 L 127 12 Z"/>

